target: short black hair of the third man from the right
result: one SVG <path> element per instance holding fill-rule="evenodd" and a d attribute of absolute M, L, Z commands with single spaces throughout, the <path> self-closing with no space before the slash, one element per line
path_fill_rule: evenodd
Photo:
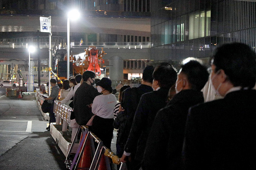
<path fill-rule="evenodd" d="M 171 88 L 177 79 L 177 72 L 170 64 L 159 64 L 154 72 L 153 79 L 159 82 L 159 87 Z"/>

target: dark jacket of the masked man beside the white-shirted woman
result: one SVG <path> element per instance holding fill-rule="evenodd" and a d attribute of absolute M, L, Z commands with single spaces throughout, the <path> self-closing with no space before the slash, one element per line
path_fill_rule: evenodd
<path fill-rule="evenodd" d="M 78 89 L 75 91 L 74 95 L 74 115 L 75 121 L 79 125 L 86 125 L 90 120 L 93 113 L 91 108 L 87 105 L 93 103 L 94 98 L 99 95 L 98 91 L 91 85 L 88 85 L 86 82 L 83 82 Z"/>

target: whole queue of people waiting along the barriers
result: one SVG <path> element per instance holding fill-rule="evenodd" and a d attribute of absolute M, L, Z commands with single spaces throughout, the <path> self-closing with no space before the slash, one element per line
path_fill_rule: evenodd
<path fill-rule="evenodd" d="M 195 58 L 178 73 L 168 63 L 148 65 L 139 87 L 122 86 L 118 103 L 110 79 L 95 84 L 85 71 L 64 81 L 61 102 L 73 108 L 74 128 L 88 125 L 108 148 L 119 129 L 116 151 L 129 170 L 256 169 L 256 54 L 231 43 L 211 61 L 210 75 Z M 50 102 L 58 90 L 51 85 Z M 208 87 L 221 99 L 206 99 Z"/>

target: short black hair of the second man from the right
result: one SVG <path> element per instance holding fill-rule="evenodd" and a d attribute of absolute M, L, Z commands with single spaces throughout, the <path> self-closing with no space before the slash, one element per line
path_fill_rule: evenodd
<path fill-rule="evenodd" d="M 181 72 L 187 76 L 191 88 L 197 91 L 204 87 L 209 78 L 207 68 L 196 60 L 191 60 L 182 65 Z"/>

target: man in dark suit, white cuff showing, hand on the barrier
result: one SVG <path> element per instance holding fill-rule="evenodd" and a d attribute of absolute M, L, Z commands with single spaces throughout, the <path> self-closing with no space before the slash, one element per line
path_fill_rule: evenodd
<path fill-rule="evenodd" d="M 161 64 L 153 72 L 153 89 L 155 91 L 143 94 L 134 115 L 131 131 L 125 145 L 125 152 L 121 161 L 125 162 L 127 156 L 137 146 L 135 165 L 132 169 L 139 169 L 143 159 L 147 137 L 153 120 L 159 109 L 165 107 L 169 89 L 175 84 L 177 73 L 170 64 Z"/>

